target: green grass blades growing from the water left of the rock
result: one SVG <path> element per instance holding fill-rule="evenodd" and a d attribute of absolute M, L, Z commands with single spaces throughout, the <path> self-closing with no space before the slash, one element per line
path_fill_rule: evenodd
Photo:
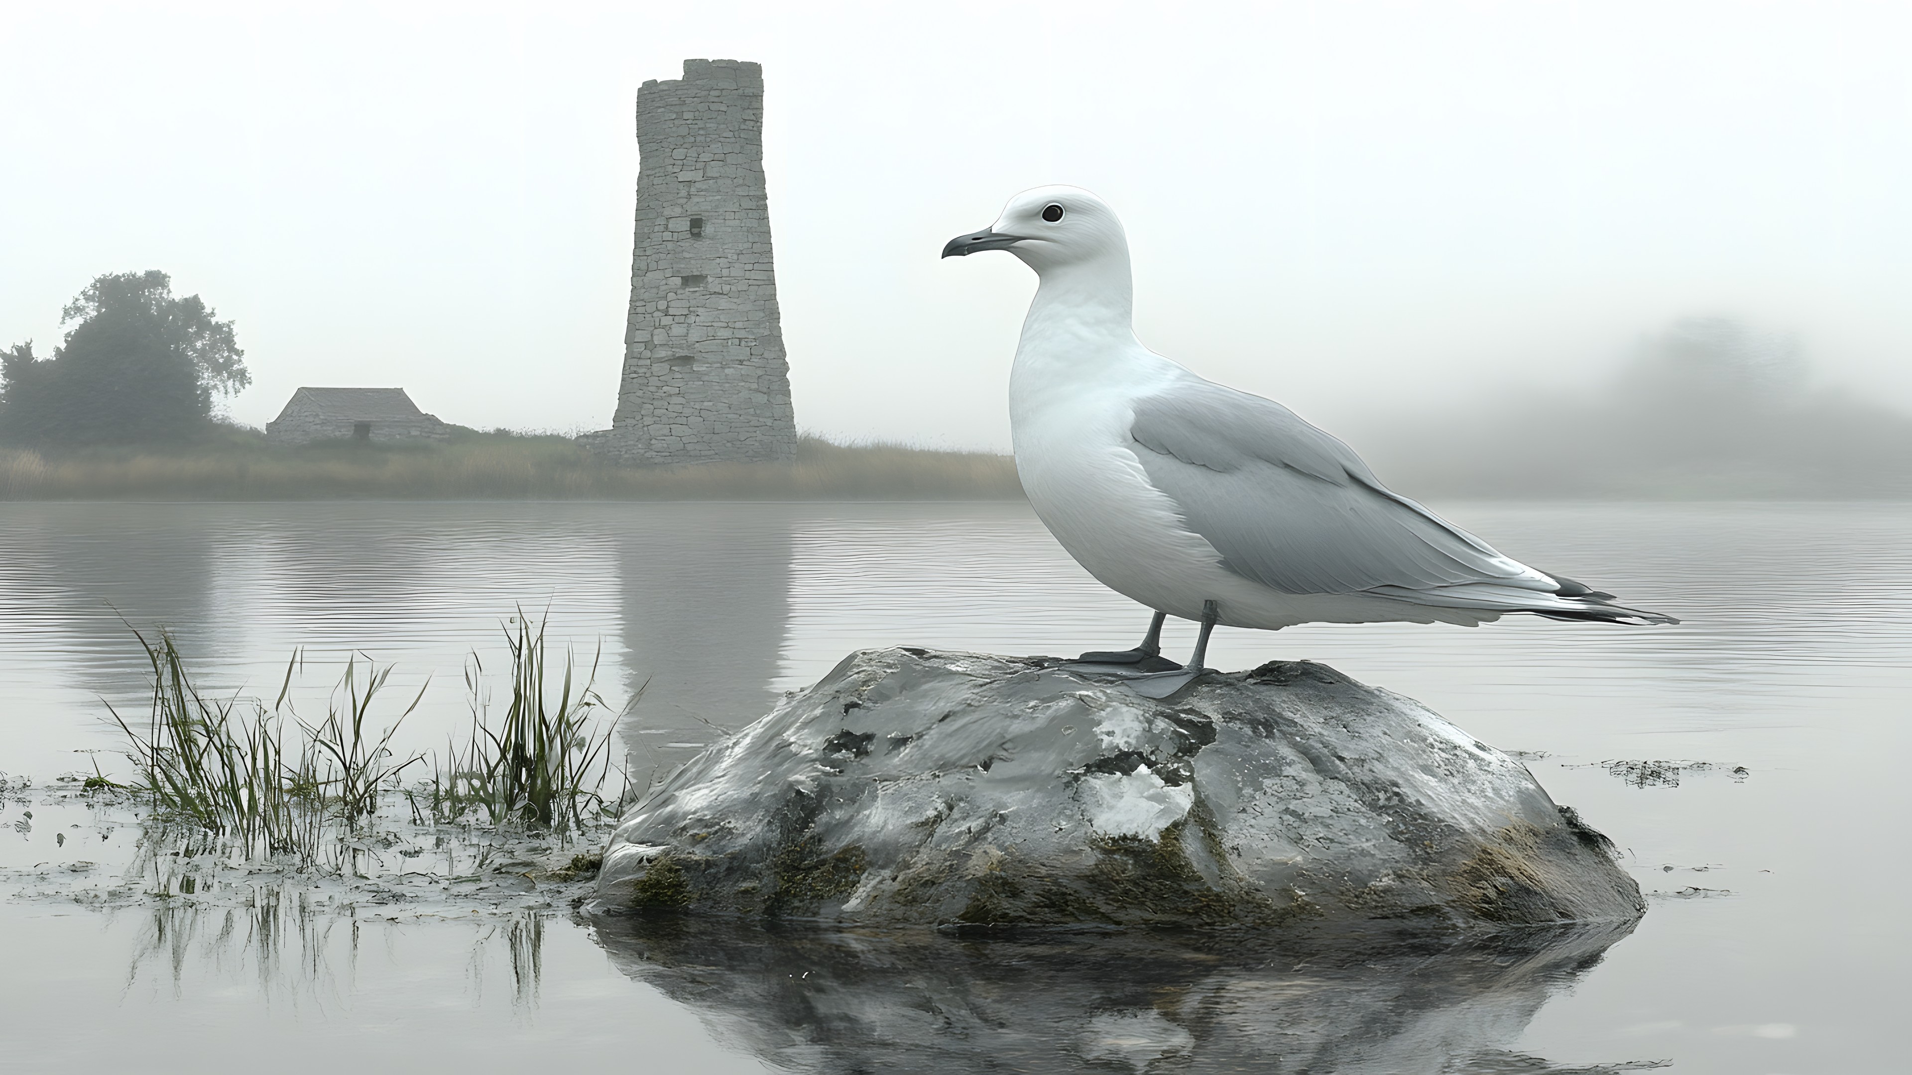
<path fill-rule="evenodd" d="M 212 696 L 193 683 L 172 631 L 151 637 L 132 629 L 153 671 L 143 721 L 113 704 L 107 712 L 126 736 L 134 761 L 132 790 L 147 796 L 155 821 L 195 847 L 222 847 L 241 857 L 293 855 L 300 868 L 356 868 L 356 855 L 377 836 L 379 811 L 394 796 L 413 821 L 541 828 L 568 838 L 600 824 L 621 805 L 604 798 L 610 777 L 612 721 L 595 689 L 598 660 L 577 677 L 566 650 L 562 673 L 551 666 L 543 622 L 520 610 L 505 627 L 511 652 L 511 698 L 501 721 L 489 715 L 489 687 L 476 654 L 467 668 L 472 725 L 463 746 L 428 765 L 411 788 L 403 775 L 424 756 L 402 757 L 392 738 L 424 696 L 373 731 L 392 668 L 354 654 L 333 689 L 325 719 L 302 721 L 289 704 L 300 652 L 287 662 L 285 683 L 268 708 L 239 694 Z M 88 777 L 86 788 L 113 788 Z M 212 840 L 208 844 L 208 840 Z M 574 861 L 574 867 L 577 863 Z"/>

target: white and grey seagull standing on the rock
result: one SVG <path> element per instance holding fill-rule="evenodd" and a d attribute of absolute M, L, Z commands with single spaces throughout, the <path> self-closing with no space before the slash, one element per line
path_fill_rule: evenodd
<path fill-rule="evenodd" d="M 1029 503 L 1096 580 L 1155 610 L 1138 647 L 1080 664 L 1159 679 L 1138 691 L 1166 696 L 1203 671 L 1216 624 L 1677 624 L 1495 551 L 1294 411 L 1145 348 L 1128 237 L 1094 193 L 1027 189 L 943 256 L 983 251 L 1040 279 L 1010 373 Z M 1185 666 L 1162 658 L 1168 616 L 1201 624 Z"/>

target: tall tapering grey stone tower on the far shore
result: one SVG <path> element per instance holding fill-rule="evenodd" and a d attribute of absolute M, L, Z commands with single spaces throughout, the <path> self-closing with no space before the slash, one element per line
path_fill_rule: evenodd
<path fill-rule="evenodd" d="M 612 428 L 625 463 L 790 459 L 790 363 L 763 189 L 763 67 L 686 59 L 637 92 L 637 241 Z"/>

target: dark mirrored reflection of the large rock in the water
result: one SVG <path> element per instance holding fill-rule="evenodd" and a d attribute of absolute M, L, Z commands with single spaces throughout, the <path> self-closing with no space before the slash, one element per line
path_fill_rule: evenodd
<path fill-rule="evenodd" d="M 1489 937 L 767 932 L 600 916 L 623 974 L 795 1071 L 1616 1071 L 1510 1052 L 1631 926 Z M 1627 1064 L 1623 1067 L 1640 1067 Z"/>

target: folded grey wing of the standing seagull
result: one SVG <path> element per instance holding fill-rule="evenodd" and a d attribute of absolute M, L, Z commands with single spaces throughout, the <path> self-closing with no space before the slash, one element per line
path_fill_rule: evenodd
<path fill-rule="evenodd" d="M 1499 583 L 1562 593 L 1407 497 L 1294 411 L 1206 381 L 1136 402 L 1136 457 L 1235 574 L 1285 593 Z M 1583 587 L 1575 587 L 1585 593 Z"/>

